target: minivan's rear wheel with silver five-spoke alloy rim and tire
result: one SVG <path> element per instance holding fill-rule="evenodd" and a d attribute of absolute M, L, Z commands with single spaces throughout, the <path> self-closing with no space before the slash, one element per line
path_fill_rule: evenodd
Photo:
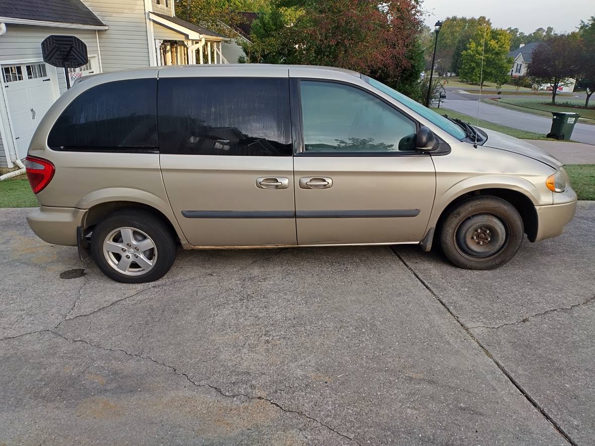
<path fill-rule="evenodd" d="M 155 281 L 169 271 L 176 254 L 170 228 L 145 212 L 112 213 L 93 229 L 91 257 L 107 277 L 117 282 Z"/>

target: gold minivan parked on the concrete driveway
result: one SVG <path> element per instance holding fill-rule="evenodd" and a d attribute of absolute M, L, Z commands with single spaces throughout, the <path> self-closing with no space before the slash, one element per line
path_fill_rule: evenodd
<path fill-rule="evenodd" d="M 184 249 L 419 244 L 493 269 L 555 237 L 577 195 L 528 143 L 353 71 L 155 67 L 89 76 L 29 147 L 43 240 L 148 282 Z"/>

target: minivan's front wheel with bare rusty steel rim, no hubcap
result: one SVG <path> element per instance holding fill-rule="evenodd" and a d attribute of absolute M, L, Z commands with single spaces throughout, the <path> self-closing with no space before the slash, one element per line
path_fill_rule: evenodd
<path fill-rule="evenodd" d="M 466 199 L 449 211 L 440 231 L 444 254 L 466 269 L 494 269 L 515 256 L 524 238 L 522 218 L 506 200 Z"/>

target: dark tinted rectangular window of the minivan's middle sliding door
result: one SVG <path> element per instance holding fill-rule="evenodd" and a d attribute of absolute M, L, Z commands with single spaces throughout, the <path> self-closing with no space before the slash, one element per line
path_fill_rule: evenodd
<path fill-rule="evenodd" d="M 291 156 L 287 78 L 159 79 L 159 151 Z"/>

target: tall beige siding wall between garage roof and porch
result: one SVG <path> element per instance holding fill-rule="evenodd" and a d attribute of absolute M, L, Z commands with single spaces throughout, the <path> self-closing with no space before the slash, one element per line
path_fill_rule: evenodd
<path fill-rule="evenodd" d="M 84 0 L 84 4 L 109 26 L 109 30 L 98 32 L 104 72 L 149 66 L 144 2 Z"/>

